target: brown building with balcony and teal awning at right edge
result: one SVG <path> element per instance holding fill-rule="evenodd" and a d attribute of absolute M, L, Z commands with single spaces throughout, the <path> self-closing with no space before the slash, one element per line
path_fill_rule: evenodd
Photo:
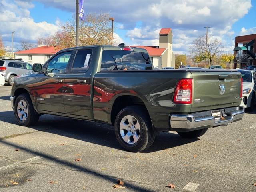
<path fill-rule="evenodd" d="M 234 69 L 256 65 L 256 34 L 237 36 L 235 38 L 235 48 L 233 49 Z"/>

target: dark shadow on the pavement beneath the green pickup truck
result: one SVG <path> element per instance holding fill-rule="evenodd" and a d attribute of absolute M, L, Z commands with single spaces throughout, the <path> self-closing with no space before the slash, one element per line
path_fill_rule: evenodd
<path fill-rule="evenodd" d="M 17 124 L 13 111 L 0 112 L 0 120 L 11 124 Z M 92 121 L 75 120 L 71 118 L 43 115 L 36 125 L 30 126 L 38 131 L 58 134 L 102 146 L 124 150 L 114 133 L 112 126 Z M 144 153 L 155 152 L 176 146 L 188 144 L 199 139 L 185 139 L 178 134 L 162 132 L 156 136 L 154 144 Z"/>

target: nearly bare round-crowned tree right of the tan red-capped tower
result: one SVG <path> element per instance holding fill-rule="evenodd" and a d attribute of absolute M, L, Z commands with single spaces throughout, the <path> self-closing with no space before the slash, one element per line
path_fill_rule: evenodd
<path fill-rule="evenodd" d="M 209 59 L 211 66 L 213 58 L 220 54 L 223 48 L 222 42 L 212 38 L 212 36 L 208 36 L 206 46 L 206 36 L 200 36 L 192 42 L 190 53 L 195 56 L 197 62 Z"/>

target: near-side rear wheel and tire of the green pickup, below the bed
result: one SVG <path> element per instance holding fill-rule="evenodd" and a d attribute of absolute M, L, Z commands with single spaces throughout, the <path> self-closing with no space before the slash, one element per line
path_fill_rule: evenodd
<path fill-rule="evenodd" d="M 115 134 L 120 145 L 130 152 L 150 148 L 156 137 L 148 112 L 142 106 L 128 106 L 118 113 Z"/>

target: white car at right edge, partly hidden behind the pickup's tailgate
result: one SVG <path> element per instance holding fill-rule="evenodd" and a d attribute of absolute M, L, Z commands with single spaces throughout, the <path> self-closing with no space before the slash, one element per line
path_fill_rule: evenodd
<path fill-rule="evenodd" d="M 256 94 L 253 90 L 256 84 L 256 72 L 252 70 L 238 70 L 243 78 L 241 106 L 253 110 L 256 105 Z"/>

